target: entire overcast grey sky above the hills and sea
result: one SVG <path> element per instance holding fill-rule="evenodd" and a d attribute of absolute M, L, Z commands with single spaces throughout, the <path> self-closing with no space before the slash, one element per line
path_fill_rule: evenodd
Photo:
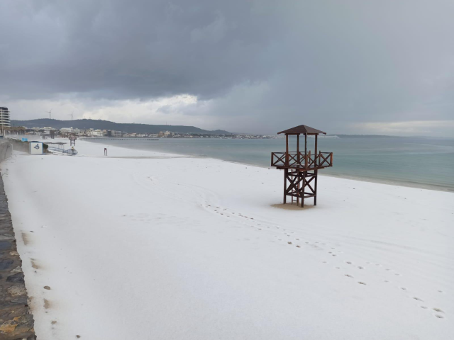
<path fill-rule="evenodd" d="M 453 0 L 1 0 L 0 106 L 454 137 Z"/>

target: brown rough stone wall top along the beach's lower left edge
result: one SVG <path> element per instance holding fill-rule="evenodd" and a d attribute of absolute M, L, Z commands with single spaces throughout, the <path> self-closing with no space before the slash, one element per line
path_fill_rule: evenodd
<path fill-rule="evenodd" d="M 8 198 L 0 174 L 0 339 L 36 339 L 33 324 L 22 261 L 16 249 Z"/>

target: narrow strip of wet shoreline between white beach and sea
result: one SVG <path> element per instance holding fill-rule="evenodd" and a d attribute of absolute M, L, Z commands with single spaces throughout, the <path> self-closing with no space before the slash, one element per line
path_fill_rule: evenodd
<path fill-rule="evenodd" d="M 94 142 L 96 140 L 84 140 L 84 142 Z M 247 166 L 256 166 L 258 168 L 262 169 L 270 169 L 270 166 L 265 166 L 262 164 L 252 164 L 252 163 L 244 163 L 244 162 L 237 162 L 237 161 L 231 161 L 231 160 L 226 160 L 226 159 L 221 159 L 221 158 L 216 158 L 216 157 L 209 157 L 206 155 L 197 155 L 197 154 L 179 154 L 175 152 L 161 152 L 159 150 L 153 150 L 153 149 L 138 149 L 135 147 L 128 147 L 124 145 L 113 145 L 109 143 L 104 143 L 106 145 L 110 145 L 113 147 L 121 147 L 123 149 L 133 149 L 133 150 L 141 150 L 141 151 L 150 151 L 150 152 L 159 152 L 159 153 L 166 153 L 166 154 L 173 154 L 175 156 L 179 157 L 196 157 L 196 158 L 211 158 L 211 159 L 217 159 L 222 162 L 228 162 L 228 163 L 233 163 L 233 164 L 242 164 L 242 165 L 247 165 Z M 334 166 L 336 167 L 336 162 L 334 163 Z M 387 179 L 379 179 L 376 177 L 366 177 L 366 176 L 348 176 L 348 175 L 343 175 L 343 174 L 326 174 L 321 172 L 319 176 L 327 176 L 327 177 L 334 177 L 334 178 L 339 178 L 339 179 L 350 179 L 352 181 L 361 181 L 361 182 L 368 182 L 368 183 L 377 183 L 377 184 L 386 184 L 388 186 L 403 186 L 406 188 L 416 188 L 416 189 L 423 189 L 423 190 L 431 190 L 431 191 L 441 191 L 441 192 L 447 192 L 447 193 L 454 193 L 454 188 L 448 188 L 445 186 L 436 186 L 433 184 L 425 184 L 425 183 L 419 183 L 419 182 L 414 182 L 414 181 L 393 181 L 393 180 L 387 180 Z"/>

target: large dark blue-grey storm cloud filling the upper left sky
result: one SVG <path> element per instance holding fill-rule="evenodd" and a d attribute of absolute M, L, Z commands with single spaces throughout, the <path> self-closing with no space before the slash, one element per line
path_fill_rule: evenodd
<path fill-rule="evenodd" d="M 243 79 L 267 77 L 260 60 L 269 38 L 250 21 L 251 7 L 248 1 L 11 1 L 2 11 L 13 16 L 2 22 L 9 33 L 1 73 L 13 96 L 212 96 Z"/>

